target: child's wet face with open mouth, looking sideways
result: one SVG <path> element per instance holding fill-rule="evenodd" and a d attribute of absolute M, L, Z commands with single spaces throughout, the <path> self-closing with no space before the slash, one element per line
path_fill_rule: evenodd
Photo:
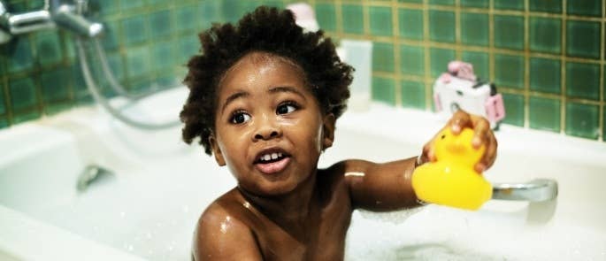
<path fill-rule="evenodd" d="M 322 113 L 303 77 L 283 58 L 251 53 L 220 81 L 211 148 L 241 188 L 288 193 L 315 174 L 321 150 L 332 145 L 334 116 Z"/>

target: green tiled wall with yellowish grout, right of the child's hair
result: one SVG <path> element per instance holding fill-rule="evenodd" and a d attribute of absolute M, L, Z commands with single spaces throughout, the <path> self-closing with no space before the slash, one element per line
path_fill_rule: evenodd
<path fill-rule="evenodd" d="M 505 124 L 606 140 L 606 0 L 311 3 L 334 10 L 336 20 L 320 19 L 328 35 L 372 40 L 377 101 L 433 110 L 433 81 L 450 60 L 462 59 L 503 94 Z M 364 27 L 352 28 L 349 15 L 360 9 Z"/>

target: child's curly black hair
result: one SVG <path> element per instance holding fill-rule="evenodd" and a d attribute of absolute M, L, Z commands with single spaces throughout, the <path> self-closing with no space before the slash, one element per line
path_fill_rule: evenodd
<path fill-rule="evenodd" d="M 236 26 L 215 24 L 199 37 L 202 54 L 188 61 L 184 83 L 189 96 L 180 120 L 185 123 L 183 141 L 191 144 L 199 136 L 206 154 L 211 155 L 209 136 L 215 127 L 219 82 L 240 58 L 254 51 L 287 58 L 303 68 L 323 113 L 338 119 L 347 108 L 353 68 L 341 62 L 323 31 L 304 33 L 288 10 L 260 6 Z"/>

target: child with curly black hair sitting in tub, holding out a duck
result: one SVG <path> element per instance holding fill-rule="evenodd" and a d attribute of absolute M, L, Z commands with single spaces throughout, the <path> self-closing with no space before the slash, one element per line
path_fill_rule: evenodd
<path fill-rule="evenodd" d="M 238 185 L 200 217 L 196 260 L 342 259 L 352 211 L 419 205 L 410 175 L 434 160 L 431 142 L 418 158 L 351 159 L 318 169 L 353 70 L 321 31 L 303 33 L 291 12 L 259 7 L 237 27 L 215 25 L 200 40 L 203 54 L 190 59 L 185 79 L 183 140 L 199 137 Z M 486 119 L 459 111 L 446 127 L 472 127 L 473 145 L 487 147 L 476 169 L 493 164 L 496 142 Z"/>

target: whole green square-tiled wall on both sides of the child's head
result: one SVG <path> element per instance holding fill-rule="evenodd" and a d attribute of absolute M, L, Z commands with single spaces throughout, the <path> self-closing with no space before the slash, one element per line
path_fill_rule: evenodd
<path fill-rule="evenodd" d="M 9 0 L 10 12 L 42 0 Z M 119 81 L 133 91 L 180 81 L 212 22 L 258 4 L 295 1 L 91 0 Z M 372 98 L 432 110 L 432 85 L 450 60 L 474 65 L 502 92 L 504 123 L 604 141 L 606 0 L 309 0 L 337 41 L 371 40 Z M 46 31 L 0 46 L 0 128 L 92 103 L 72 35 Z M 96 75 L 101 75 L 98 68 Z M 107 82 L 104 92 L 112 95 Z"/>

